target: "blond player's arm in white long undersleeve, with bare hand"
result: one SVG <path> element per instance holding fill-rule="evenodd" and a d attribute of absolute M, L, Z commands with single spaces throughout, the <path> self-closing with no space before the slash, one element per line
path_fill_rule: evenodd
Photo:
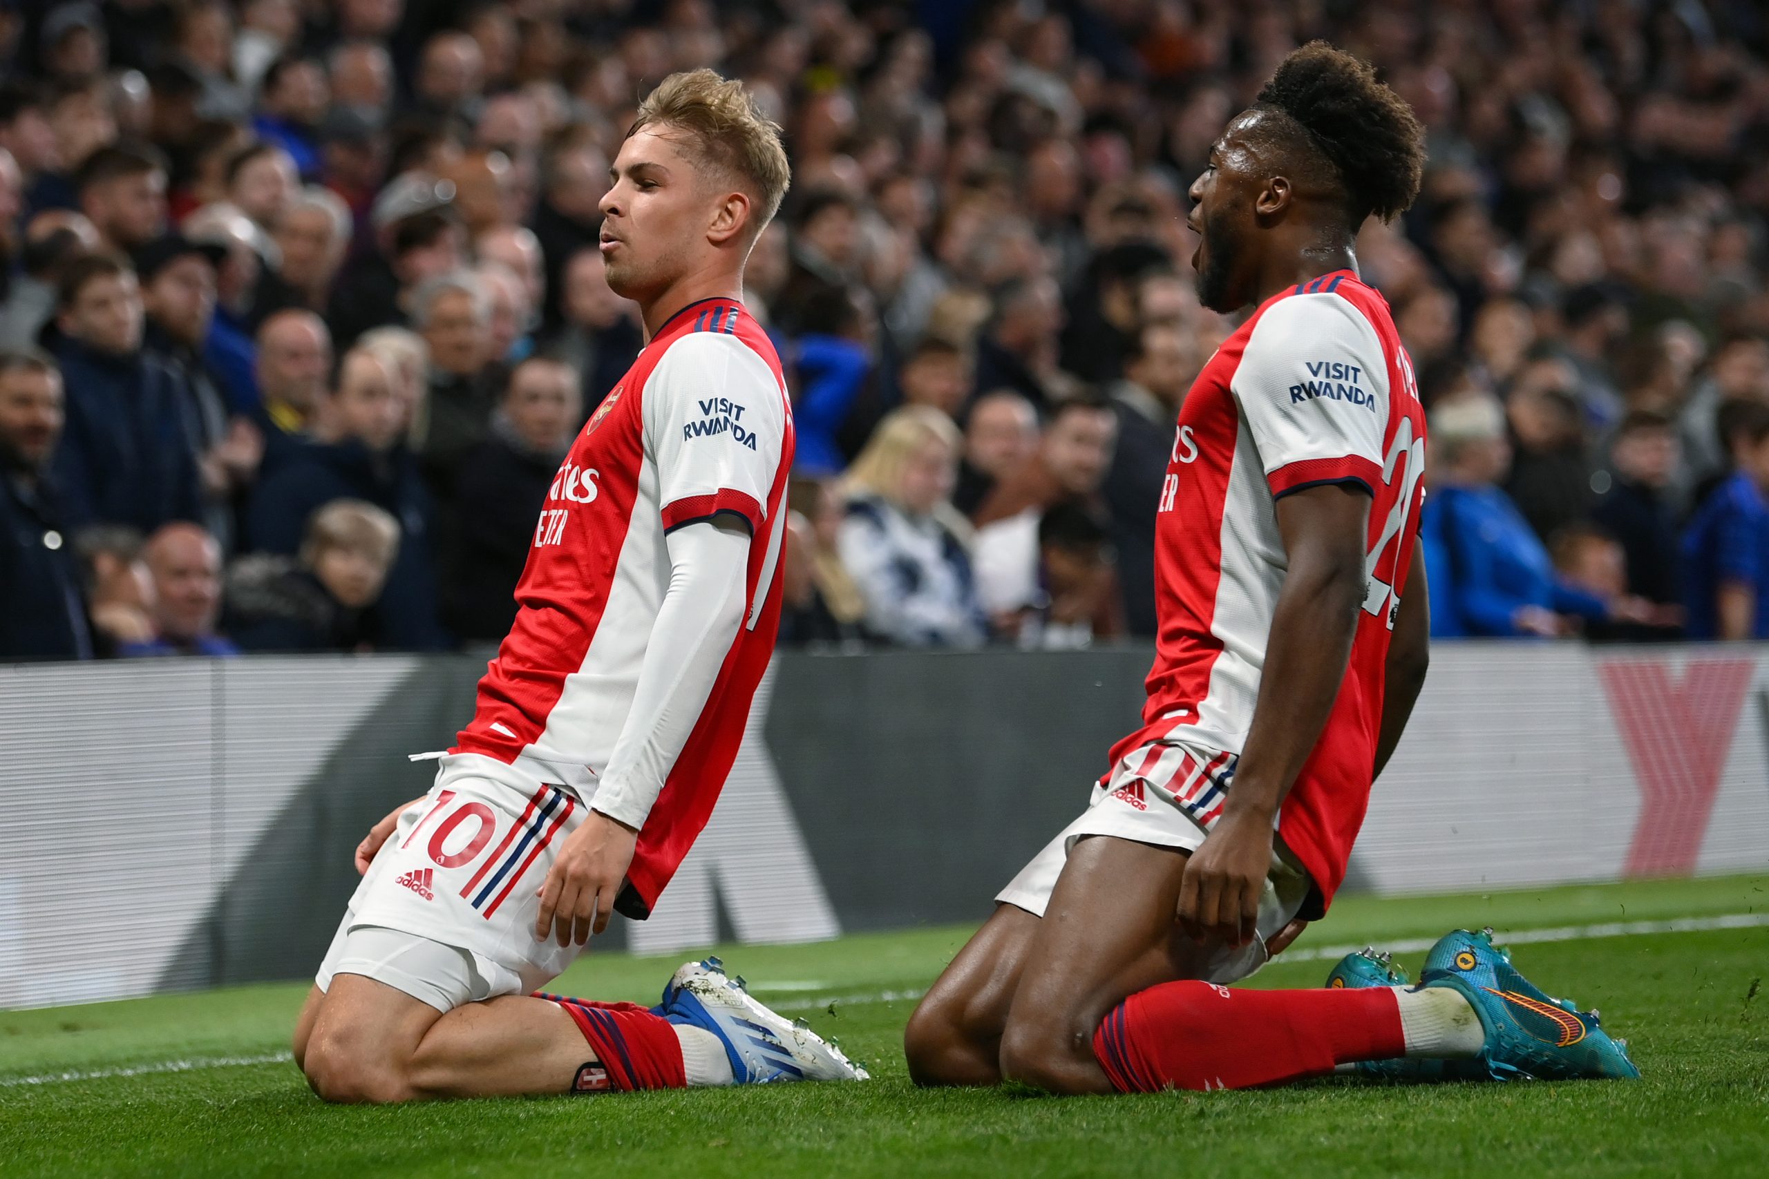
<path fill-rule="evenodd" d="M 601 933 L 633 859 L 639 829 L 743 626 L 748 521 L 729 513 L 672 530 L 669 590 L 633 689 L 633 707 L 596 783 L 589 817 L 561 848 L 541 886 L 534 937 L 548 926 L 564 946 Z"/>

